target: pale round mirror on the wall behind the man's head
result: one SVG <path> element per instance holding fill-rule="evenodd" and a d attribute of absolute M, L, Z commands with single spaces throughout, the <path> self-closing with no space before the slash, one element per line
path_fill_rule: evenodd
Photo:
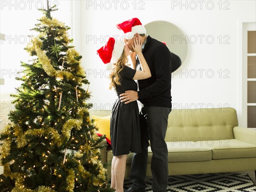
<path fill-rule="evenodd" d="M 185 61 L 188 45 L 183 32 L 176 25 L 163 20 L 152 21 L 144 25 L 147 34 L 158 41 L 165 42 L 171 52 Z"/>

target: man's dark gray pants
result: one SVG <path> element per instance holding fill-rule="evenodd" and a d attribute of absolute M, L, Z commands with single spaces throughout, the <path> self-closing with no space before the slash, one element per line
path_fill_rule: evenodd
<path fill-rule="evenodd" d="M 145 190 L 145 176 L 148 160 L 148 145 L 153 152 L 151 172 L 152 190 L 165 192 L 168 184 L 168 150 L 165 142 L 168 116 L 171 108 L 144 106 L 140 113 L 142 153 L 134 153 L 130 180 L 135 190 Z"/>

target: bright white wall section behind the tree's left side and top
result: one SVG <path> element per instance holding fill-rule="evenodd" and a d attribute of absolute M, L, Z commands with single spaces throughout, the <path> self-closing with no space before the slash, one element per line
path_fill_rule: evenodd
<path fill-rule="evenodd" d="M 50 5 L 57 5 L 58 11 L 52 12 L 52 17 L 70 26 L 70 2 L 66 0 L 50 0 Z M 1 76 L 5 81 L 0 85 L 1 94 L 15 91 L 21 82 L 15 80 L 18 71 L 22 70 L 20 61 L 27 62 L 29 53 L 23 48 L 31 41 L 28 35 L 38 35 L 37 32 L 30 31 L 39 23 L 37 19 L 43 16 L 41 9 L 46 7 L 46 0 L 35 1 L 0 1 L 0 32 L 4 34 L 0 41 L 0 68 Z M 2 100 L 2 99 L 1 99 Z"/>

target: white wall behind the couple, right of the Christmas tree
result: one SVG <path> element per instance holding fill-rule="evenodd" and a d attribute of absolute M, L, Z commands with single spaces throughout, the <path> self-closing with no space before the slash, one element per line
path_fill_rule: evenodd
<path fill-rule="evenodd" d="M 143 25 L 169 21 L 188 37 L 186 60 L 172 78 L 173 108 L 238 110 L 238 23 L 241 18 L 255 18 L 255 1 L 75 2 L 81 11 L 81 24 L 73 27 L 81 28 L 81 41 L 79 37 L 76 41 L 81 44 L 82 64 L 93 92 L 90 102 L 95 109 L 108 110 L 115 99 L 108 90 L 109 73 L 96 50 L 106 43 L 108 35 L 118 34 L 117 23 L 138 17 Z"/>

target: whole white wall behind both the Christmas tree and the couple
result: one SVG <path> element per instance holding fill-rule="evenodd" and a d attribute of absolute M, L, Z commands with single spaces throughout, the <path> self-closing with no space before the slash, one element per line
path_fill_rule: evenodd
<path fill-rule="evenodd" d="M 1 76 L 5 78 L 5 85 L 0 87 L 1 94 L 13 92 L 14 87 L 20 85 L 20 82 L 15 80 L 17 75 L 13 73 L 20 69 L 20 61 L 29 59 L 28 53 L 23 50 L 26 43 L 22 44 L 21 38 L 22 35 L 32 35 L 29 29 L 37 23 L 36 19 L 41 17 L 41 12 L 36 10 L 41 6 L 41 3 L 36 2 L 40 1 L 32 1 L 32 4 L 29 4 L 30 1 L 23 1 L 26 3 L 26 9 L 18 3 L 21 1 L 12 1 L 17 2 L 16 7 L 15 3 L 13 6 L 3 6 L 2 2 L 10 1 L 1 0 L 0 32 L 11 35 L 11 38 L 17 35 L 20 40 L 16 38 L 17 43 L 15 40 L 1 41 Z M 255 1 L 73 0 L 71 14 L 69 1 L 51 2 L 57 3 L 60 9 L 53 16 L 72 27 L 72 38 L 83 56 L 82 65 L 90 81 L 92 98 L 89 102 L 94 104 L 94 109 L 108 110 L 115 99 L 115 93 L 108 90 L 109 72 L 96 55 L 96 50 L 106 43 L 109 35 L 120 35 L 116 23 L 138 17 L 143 25 L 154 20 L 169 21 L 177 25 L 188 37 L 186 60 L 172 78 L 173 108 L 230 106 L 238 110 L 237 77 L 241 65 L 238 62 L 238 22 L 241 18 L 255 18 Z M 180 7 L 181 4 L 183 6 Z M 201 35 L 204 35 L 202 43 Z M 208 41 L 212 40 L 210 37 L 214 38 L 212 44 L 207 43 L 207 36 Z M 197 38 L 196 42 L 194 37 Z M 224 44 L 225 40 L 229 44 Z M 26 38 L 26 41 L 29 41 L 29 38 Z M 2 72 L 6 73 L 4 70 L 8 73 L 3 74 Z M 214 72 L 213 76 L 211 72 Z M 210 76 L 212 78 L 209 78 Z M 238 114 L 240 115 L 239 111 Z"/>

